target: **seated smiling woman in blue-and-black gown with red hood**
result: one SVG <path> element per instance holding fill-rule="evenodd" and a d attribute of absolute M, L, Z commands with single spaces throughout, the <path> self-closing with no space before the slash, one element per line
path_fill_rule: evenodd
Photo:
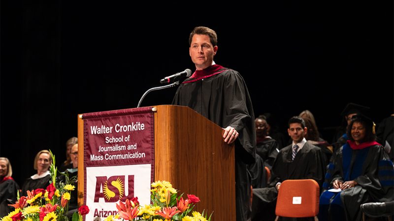
<path fill-rule="evenodd" d="M 361 204 L 393 200 L 393 163 L 375 141 L 374 130 L 371 119 L 353 116 L 347 131 L 349 140 L 328 165 L 323 187 L 330 190 L 320 197 L 320 221 L 361 221 Z"/>

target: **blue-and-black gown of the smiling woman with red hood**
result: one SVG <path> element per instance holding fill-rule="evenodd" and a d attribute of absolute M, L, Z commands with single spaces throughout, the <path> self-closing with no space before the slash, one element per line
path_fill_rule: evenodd
<path fill-rule="evenodd" d="M 338 149 L 328 165 L 325 190 L 334 180 L 358 183 L 340 193 L 324 192 L 320 197 L 319 220 L 361 221 L 360 205 L 393 200 L 393 163 L 381 145 L 353 150 L 347 143 Z"/>

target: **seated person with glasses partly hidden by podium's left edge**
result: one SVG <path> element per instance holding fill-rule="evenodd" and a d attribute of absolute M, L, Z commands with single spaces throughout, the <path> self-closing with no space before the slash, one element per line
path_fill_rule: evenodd
<path fill-rule="evenodd" d="M 66 216 L 70 219 L 72 214 L 78 210 L 78 144 L 74 144 L 71 147 L 70 159 L 72 168 L 66 169 L 64 173 L 68 174 L 68 178 L 71 185 L 75 186 L 75 189 L 71 191 L 71 198 L 68 201 L 68 213 Z M 60 175 L 58 178 L 59 182 L 66 184 L 66 176 Z"/>

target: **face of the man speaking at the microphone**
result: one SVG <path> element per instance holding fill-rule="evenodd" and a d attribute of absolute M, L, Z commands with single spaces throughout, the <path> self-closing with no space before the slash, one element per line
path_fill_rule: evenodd
<path fill-rule="evenodd" d="M 212 65 L 213 56 L 218 51 L 218 46 L 213 47 L 208 35 L 195 34 L 189 48 L 189 55 L 197 70 L 202 70 Z"/>

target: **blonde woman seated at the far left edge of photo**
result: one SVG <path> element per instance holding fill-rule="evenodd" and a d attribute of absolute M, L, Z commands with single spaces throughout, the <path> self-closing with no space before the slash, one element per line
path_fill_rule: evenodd
<path fill-rule="evenodd" d="M 14 210 L 14 207 L 8 206 L 16 201 L 18 184 L 12 176 L 12 166 L 5 157 L 0 157 L 0 218 L 6 216 Z"/>

